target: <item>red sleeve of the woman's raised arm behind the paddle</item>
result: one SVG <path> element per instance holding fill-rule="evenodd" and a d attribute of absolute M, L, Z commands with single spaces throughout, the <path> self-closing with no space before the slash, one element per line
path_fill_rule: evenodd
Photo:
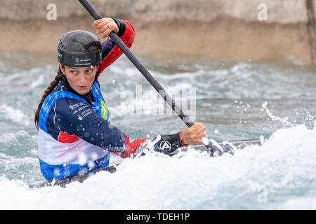
<path fill-rule="evenodd" d="M 135 38 L 135 29 L 129 21 L 125 20 L 124 22 L 126 25 L 126 29 L 123 36 L 121 36 L 121 41 L 123 41 L 128 48 L 131 48 L 131 45 L 133 44 Z M 123 52 L 121 51 L 121 49 L 119 49 L 119 46 L 115 45 L 113 50 L 111 50 L 111 52 L 101 62 L 100 73 L 102 73 L 104 69 L 107 68 L 107 66 L 110 66 L 113 62 L 115 62 L 122 54 Z"/>

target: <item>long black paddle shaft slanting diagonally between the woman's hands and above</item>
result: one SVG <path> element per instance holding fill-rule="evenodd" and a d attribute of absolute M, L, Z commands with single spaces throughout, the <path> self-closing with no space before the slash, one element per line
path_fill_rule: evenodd
<path fill-rule="evenodd" d="M 80 3 L 82 4 L 82 6 L 84 6 L 84 8 L 86 8 L 86 10 L 88 11 L 88 13 L 90 13 L 90 15 L 95 19 L 95 20 L 100 20 L 102 19 L 102 17 L 100 16 L 100 14 L 93 8 L 93 6 L 91 6 L 91 4 L 87 1 L 87 0 L 79 0 Z M 119 48 L 121 49 L 121 51 L 124 52 L 124 54 L 126 55 L 126 57 L 128 57 L 131 62 L 136 66 L 136 68 L 140 71 L 140 73 L 143 74 L 143 76 L 145 76 L 145 78 L 148 80 L 148 82 L 150 82 L 150 84 L 152 85 L 152 87 L 154 87 L 155 90 L 157 90 L 157 92 L 164 98 L 164 100 L 169 104 L 169 106 L 171 106 L 171 108 L 173 109 L 173 111 L 181 118 L 181 120 L 183 120 L 183 122 L 185 123 L 185 125 L 187 125 L 187 127 L 191 127 L 192 125 L 194 125 L 195 123 L 192 122 L 192 120 L 185 115 L 185 113 L 183 113 L 182 109 L 180 109 L 180 107 L 178 105 L 176 105 L 176 103 L 174 102 L 173 99 L 171 99 L 171 97 L 169 96 L 169 94 L 166 93 L 166 91 L 164 90 L 164 88 L 162 87 L 162 85 L 160 85 L 156 79 L 154 79 L 154 77 L 152 77 L 152 75 L 149 73 L 149 71 L 147 71 L 147 69 L 145 68 L 145 66 L 143 66 L 143 64 L 141 64 L 138 59 L 135 57 L 135 55 L 133 55 L 133 53 L 131 52 L 131 50 L 129 50 L 129 48 L 127 48 L 127 46 L 125 45 L 125 43 L 123 41 L 121 41 L 121 39 L 119 38 L 119 36 L 117 36 L 117 34 L 115 34 L 113 31 L 110 33 L 110 38 L 112 38 L 112 40 L 114 41 L 114 43 L 116 43 Z"/>

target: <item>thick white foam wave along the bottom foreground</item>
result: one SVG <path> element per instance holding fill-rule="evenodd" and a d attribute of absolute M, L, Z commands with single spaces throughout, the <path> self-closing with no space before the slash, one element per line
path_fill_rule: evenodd
<path fill-rule="evenodd" d="M 235 156 L 149 153 L 66 188 L 1 176 L 0 209 L 316 209 L 305 203 L 316 197 L 315 176 L 316 128 L 298 125 Z"/>

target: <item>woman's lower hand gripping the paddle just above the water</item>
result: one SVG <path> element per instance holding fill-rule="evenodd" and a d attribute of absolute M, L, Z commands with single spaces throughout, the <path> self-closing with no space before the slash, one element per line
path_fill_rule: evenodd
<path fill-rule="evenodd" d="M 183 132 L 183 143 L 186 145 L 202 144 L 202 138 L 207 138 L 205 129 L 206 127 L 204 127 L 203 123 L 196 123 L 192 127 L 187 127 Z"/>

